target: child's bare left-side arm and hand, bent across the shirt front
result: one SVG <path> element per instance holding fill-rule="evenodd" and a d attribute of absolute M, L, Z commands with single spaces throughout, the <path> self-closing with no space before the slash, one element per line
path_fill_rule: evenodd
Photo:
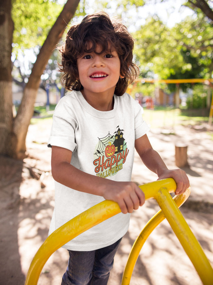
<path fill-rule="evenodd" d="M 85 173 L 70 164 L 72 151 L 52 146 L 51 168 L 55 181 L 75 189 L 117 202 L 122 213 L 132 213 L 145 202 L 141 189 L 133 182 L 117 182 Z"/>

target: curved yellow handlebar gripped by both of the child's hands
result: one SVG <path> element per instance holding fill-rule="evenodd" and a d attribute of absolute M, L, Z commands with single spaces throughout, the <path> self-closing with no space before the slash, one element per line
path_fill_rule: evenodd
<path fill-rule="evenodd" d="M 176 189 L 176 183 L 172 178 L 147 183 L 140 186 L 140 188 L 144 192 L 145 199 L 147 200 L 153 198 L 156 190 L 163 186 L 167 187 L 170 193 L 174 192 Z M 82 232 L 85 232 L 96 224 L 99 224 L 120 212 L 121 210 L 116 202 L 105 200 L 55 230 L 49 235 L 35 254 L 27 273 L 25 285 L 37 284 L 43 266 L 51 254 L 58 248 L 80 235 Z"/>

